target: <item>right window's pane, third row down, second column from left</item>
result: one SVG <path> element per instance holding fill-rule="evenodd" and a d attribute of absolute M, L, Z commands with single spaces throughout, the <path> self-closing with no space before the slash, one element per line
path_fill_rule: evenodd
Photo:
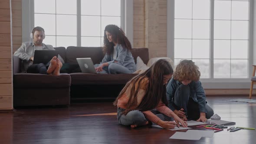
<path fill-rule="evenodd" d="M 192 40 L 192 58 L 193 59 L 209 59 L 210 58 L 210 40 L 193 39 Z"/>

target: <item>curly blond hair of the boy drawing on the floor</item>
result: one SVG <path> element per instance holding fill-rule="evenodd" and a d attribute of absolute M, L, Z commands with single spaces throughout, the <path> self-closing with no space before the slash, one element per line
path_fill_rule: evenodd
<path fill-rule="evenodd" d="M 199 67 L 192 60 L 181 60 L 176 66 L 173 78 L 182 82 L 184 80 L 198 81 L 200 79 Z"/>

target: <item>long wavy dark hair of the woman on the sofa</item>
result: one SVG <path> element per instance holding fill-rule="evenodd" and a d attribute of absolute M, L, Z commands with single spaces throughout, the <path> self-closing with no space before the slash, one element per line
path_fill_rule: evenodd
<path fill-rule="evenodd" d="M 112 39 L 115 43 L 120 44 L 124 49 L 131 50 L 131 43 L 125 36 L 125 32 L 116 25 L 107 25 L 104 30 L 104 50 L 110 55 L 114 50 L 114 43 L 109 42 L 106 36 L 106 31 L 112 34 Z"/>

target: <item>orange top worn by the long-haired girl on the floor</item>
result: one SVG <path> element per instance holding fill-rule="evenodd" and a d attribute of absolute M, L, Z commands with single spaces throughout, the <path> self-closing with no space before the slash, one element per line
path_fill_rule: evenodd
<path fill-rule="evenodd" d="M 138 88 L 138 83 L 135 84 L 135 88 Z M 141 81 L 141 88 L 138 92 L 137 103 L 134 103 L 131 109 L 135 110 L 138 107 L 138 105 L 141 103 L 142 98 L 146 94 L 147 89 L 148 89 L 148 78 L 144 78 Z M 131 92 L 131 86 L 129 86 L 125 91 L 125 93 L 121 96 L 121 98 L 118 99 L 117 106 L 119 108 L 124 108 L 124 109 L 127 108 L 127 103 L 131 96 L 130 92 Z M 171 109 L 168 108 L 162 101 L 159 102 L 159 104 L 155 109 L 161 112 L 162 114 L 167 115 L 168 117 L 171 117 L 171 113 L 173 113 L 173 111 L 171 111 Z M 160 118 L 154 115 L 151 111 L 142 111 L 142 112 L 149 121 L 155 124 L 160 120 Z"/>

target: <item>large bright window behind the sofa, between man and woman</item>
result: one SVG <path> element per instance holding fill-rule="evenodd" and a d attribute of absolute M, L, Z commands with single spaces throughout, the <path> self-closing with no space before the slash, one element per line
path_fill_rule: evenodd
<path fill-rule="evenodd" d="M 108 24 L 121 26 L 121 0 L 34 0 L 34 26 L 54 47 L 102 46 Z"/>

